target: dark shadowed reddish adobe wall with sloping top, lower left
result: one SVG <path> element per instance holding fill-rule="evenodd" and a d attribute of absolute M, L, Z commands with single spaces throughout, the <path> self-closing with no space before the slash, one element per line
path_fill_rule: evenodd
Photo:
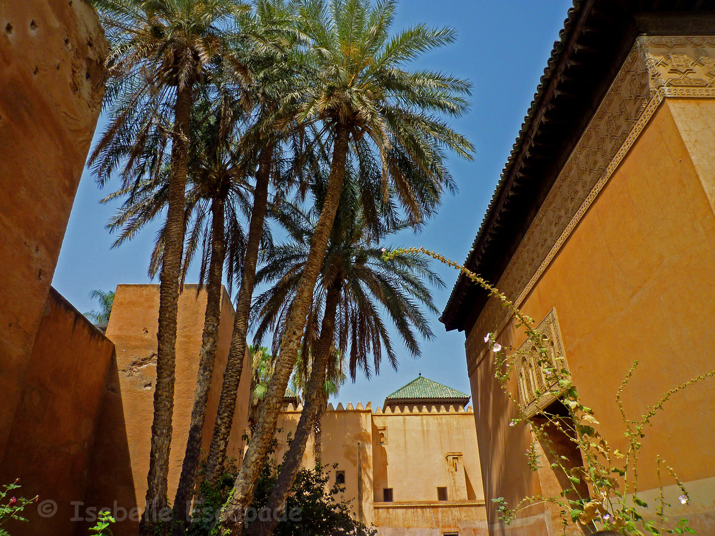
<path fill-rule="evenodd" d="M 36 505 L 11 534 L 71 536 L 71 501 L 84 500 L 105 379 L 114 344 L 55 289 L 50 289 L 9 430 L 0 482 L 20 479 L 17 495 L 54 501 L 51 517 Z M 5 373 L 5 371 L 4 371 Z M 46 508 L 46 509 L 45 509 Z M 52 511 L 51 503 L 43 511 Z"/>

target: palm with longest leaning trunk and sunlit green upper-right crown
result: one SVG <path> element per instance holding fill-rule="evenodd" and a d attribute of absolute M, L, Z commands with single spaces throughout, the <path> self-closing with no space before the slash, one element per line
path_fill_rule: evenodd
<path fill-rule="evenodd" d="M 415 26 L 390 36 L 395 0 L 306 0 L 298 29 L 309 37 L 305 61 L 311 84 L 287 96 L 290 118 L 317 124 L 332 147 L 325 202 L 312 234 L 300 283 L 280 343 L 275 374 L 268 386 L 256 433 L 248 447 L 220 525 L 239 533 L 238 511 L 250 505 L 262 460 L 270 446 L 280 404 L 290 379 L 312 303 L 328 239 L 340 202 L 349 152 L 358 146 L 380 162 L 385 202 L 393 191 L 413 222 L 453 189 L 444 149 L 470 158 L 472 145 L 433 114 L 460 116 L 468 109 L 467 81 L 403 66 L 420 54 L 452 42 L 451 29 Z M 287 119 L 285 120 L 287 122 Z M 392 188 L 390 188 L 390 185 Z M 423 203 L 427 200 L 427 205 Z"/>

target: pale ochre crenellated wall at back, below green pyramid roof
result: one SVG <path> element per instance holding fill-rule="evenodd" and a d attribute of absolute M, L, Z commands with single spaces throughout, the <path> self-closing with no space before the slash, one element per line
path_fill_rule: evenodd
<path fill-rule="evenodd" d="M 371 405 L 343 409 L 332 405 L 322 421 L 322 463 L 337 462 L 345 471 L 345 497 L 354 500 L 358 514 L 358 442 L 363 468 L 363 519 L 378 528 L 380 536 L 441 536 L 458 530 L 460 535 L 485 536 L 486 513 L 471 411 L 415 407 L 410 413 L 374 413 Z M 287 434 L 295 434 L 300 411 L 284 410 L 277 423 L 282 432 L 275 459 L 282 460 Z M 380 430 L 387 442 L 380 443 Z M 467 475 L 464 497 L 438 501 L 437 487 L 449 486 L 446 455 L 460 453 Z M 312 436 L 304 467 L 313 467 Z M 330 476 L 330 485 L 335 476 Z M 393 502 L 383 502 L 383 489 L 393 488 Z"/>

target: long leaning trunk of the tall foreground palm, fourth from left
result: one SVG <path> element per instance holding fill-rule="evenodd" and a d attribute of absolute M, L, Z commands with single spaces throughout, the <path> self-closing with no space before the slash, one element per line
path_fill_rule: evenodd
<path fill-rule="evenodd" d="M 325 259 L 327 242 L 330 239 L 332 224 L 335 222 L 337 206 L 340 204 L 342 180 L 345 178 L 348 138 L 349 129 L 347 126 L 338 124 L 335 131 L 335 145 L 332 150 L 330 178 L 325 192 L 325 204 L 315 226 L 315 232 L 310 242 L 310 252 L 298 283 L 295 299 L 288 313 L 285 332 L 280 342 L 280 354 L 275 365 L 275 372 L 273 372 L 271 381 L 268 384 L 256 432 L 243 458 L 243 464 L 236 478 L 231 498 L 227 501 L 220 515 L 222 529 L 229 529 L 231 535 L 240 535 L 241 533 L 242 514 L 253 500 L 255 484 L 268 452 L 275 430 L 275 422 L 288 385 L 288 379 L 290 379 L 290 373 L 295 365 L 295 357 L 300 349 L 308 309 L 310 309 L 310 303 L 312 302 L 312 292 L 315 288 L 318 274 L 320 274 L 322 261 Z"/>

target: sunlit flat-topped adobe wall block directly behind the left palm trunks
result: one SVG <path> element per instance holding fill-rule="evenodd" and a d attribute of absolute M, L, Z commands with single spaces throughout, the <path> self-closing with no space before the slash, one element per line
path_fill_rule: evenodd
<path fill-rule="evenodd" d="M 169 502 L 174 500 L 186 448 L 206 297 L 205 290 L 197 296 L 195 284 L 184 285 L 184 292 L 179 297 Z M 107 337 L 117 347 L 116 368 L 110 371 L 102 412 L 102 427 L 107 435 L 100 435 L 101 442 L 95 448 L 92 479 L 97 486 L 92 490 L 93 495 L 88 498 L 87 505 L 112 507 L 116 500 L 117 505 L 127 512 L 134 507 L 138 509 L 136 512 L 144 510 L 154 415 L 158 310 L 159 285 L 121 284 L 117 287 L 107 326 Z M 221 311 L 219 346 L 204 425 L 204 451 L 213 432 L 233 329 L 234 309 L 225 291 Z M 246 372 L 250 370 L 248 354 L 245 359 Z M 237 418 L 228 450 L 229 455 L 235 457 L 244 447 L 241 436 L 246 427 L 249 389 L 250 374 L 242 374 L 237 395 Z M 136 534 L 139 520 L 136 512 L 134 519 L 128 515 L 127 520 L 112 527 L 116 536 Z"/>

